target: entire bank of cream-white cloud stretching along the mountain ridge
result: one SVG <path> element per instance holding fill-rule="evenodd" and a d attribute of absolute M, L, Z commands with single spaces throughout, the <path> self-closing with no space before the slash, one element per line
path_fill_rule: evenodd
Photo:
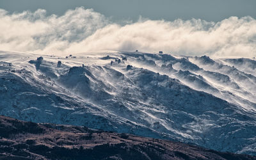
<path fill-rule="evenodd" d="M 61 54 L 138 49 L 198 56 L 256 56 L 256 20 L 252 17 L 230 17 L 220 22 L 140 18 L 118 24 L 80 7 L 62 16 L 47 16 L 45 10 L 13 14 L 0 10 L 0 24 L 0 50 L 5 51 Z"/>

